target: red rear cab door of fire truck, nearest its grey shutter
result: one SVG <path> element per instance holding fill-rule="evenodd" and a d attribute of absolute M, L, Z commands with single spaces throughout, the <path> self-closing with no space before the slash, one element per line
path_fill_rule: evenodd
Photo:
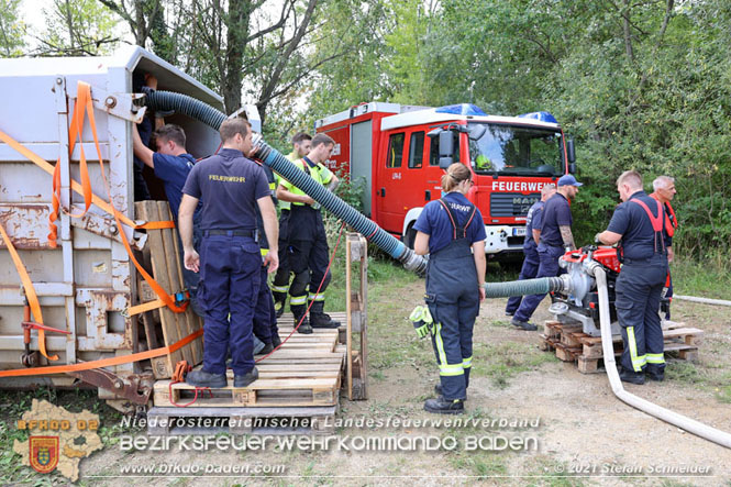
<path fill-rule="evenodd" d="M 386 142 L 386 152 L 377 163 L 380 168 L 376 185 L 376 204 L 378 207 L 378 224 L 389 232 L 401 233 L 403 223 L 405 192 L 408 188 L 401 185 L 403 179 L 403 154 L 406 132 L 392 133 Z"/>

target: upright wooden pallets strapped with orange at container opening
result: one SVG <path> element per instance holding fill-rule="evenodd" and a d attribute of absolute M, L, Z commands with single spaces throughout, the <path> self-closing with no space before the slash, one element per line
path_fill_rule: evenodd
<path fill-rule="evenodd" d="M 167 201 L 140 201 L 135 203 L 137 218 L 146 221 L 173 220 L 170 207 Z M 178 245 L 178 232 L 176 229 L 147 230 L 147 245 L 143 252 L 142 262 L 147 267 L 155 280 L 173 295 L 185 288 L 182 280 L 182 267 L 180 246 Z M 157 298 L 148 288 L 147 284 L 139 277 L 140 302 Z M 143 313 L 143 323 L 147 348 L 169 346 L 185 339 L 190 333 L 200 330 L 202 320 L 188 308 L 184 313 L 175 313 L 167 307 L 159 310 Z M 159 324 L 158 324 L 159 322 Z M 162 329 L 162 341 L 158 330 Z M 162 343 L 160 343 L 162 342 Z M 178 361 L 187 361 L 189 364 L 200 364 L 203 359 L 203 340 L 198 337 L 178 351 L 152 358 L 155 378 L 169 378 Z"/>

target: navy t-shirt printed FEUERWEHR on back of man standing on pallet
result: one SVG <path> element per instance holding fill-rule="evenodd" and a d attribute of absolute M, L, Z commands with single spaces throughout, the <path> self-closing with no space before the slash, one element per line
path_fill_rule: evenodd
<path fill-rule="evenodd" d="M 233 148 L 196 164 L 182 192 L 203 200 L 201 230 L 254 230 L 256 200 L 272 195 L 264 170 Z"/>

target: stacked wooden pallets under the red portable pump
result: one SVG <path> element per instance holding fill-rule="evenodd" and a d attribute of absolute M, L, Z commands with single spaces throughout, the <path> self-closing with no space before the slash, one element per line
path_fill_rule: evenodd
<path fill-rule="evenodd" d="M 698 346 L 704 331 L 687 328 L 684 323 L 666 321 L 663 323 L 665 352 L 677 353 L 684 361 L 698 358 Z M 614 356 L 622 354 L 622 337 L 612 336 Z M 566 325 L 557 321 L 546 321 L 539 347 L 543 351 L 555 351 L 556 357 L 563 362 L 576 362 L 583 374 L 599 372 L 603 362 L 603 350 L 600 336 L 589 336 L 580 325 Z"/>

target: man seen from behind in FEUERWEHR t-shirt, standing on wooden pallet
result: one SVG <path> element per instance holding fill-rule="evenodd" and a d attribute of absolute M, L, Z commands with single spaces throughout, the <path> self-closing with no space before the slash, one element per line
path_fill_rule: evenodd
<path fill-rule="evenodd" d="M 196 164 L 182 188 L 179 225 L 187 268 L 200 272 L 198 300 L 204 316 L 203 367 L 186 381 L 225 387 L 226 351 L 231 350 L 234 387 L 258 377 L 254 366 L 252 320 L 258 295 L 262 253 L 256 242 L 256 207 L 262 212 L 270 252 L 269 273 L 277 269 L 277 214 L 262 168 L 244 157 L 252 131 L 244 119 L 225 120 L 221 151 Z M 192 247 L 192 212 L 203 200 L 200 257 Z"/>

